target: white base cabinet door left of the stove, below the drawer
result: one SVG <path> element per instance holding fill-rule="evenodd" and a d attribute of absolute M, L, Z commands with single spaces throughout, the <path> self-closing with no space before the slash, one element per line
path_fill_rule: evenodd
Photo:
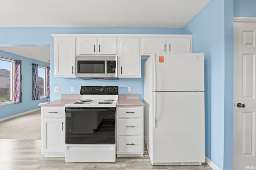
<path fill-rule="evenodd" d="M 42 152 L 64 153 L 65 152 L 65 119 L 44 118 L 42 120 Z"/>

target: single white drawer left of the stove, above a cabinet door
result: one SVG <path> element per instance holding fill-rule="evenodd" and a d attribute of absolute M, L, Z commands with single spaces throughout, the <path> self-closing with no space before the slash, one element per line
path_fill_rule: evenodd
<path fill-rule="evenodd" d="M 42 107 L 42 117 L 65 117 L 65 107 Z"/>

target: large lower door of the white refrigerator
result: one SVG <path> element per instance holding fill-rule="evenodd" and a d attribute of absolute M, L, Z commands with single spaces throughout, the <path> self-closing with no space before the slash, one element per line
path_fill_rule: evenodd
<path fill-rule="evenodd" d="M 204 162 L 204 92 L 156 92 L 153 164 Z"/>

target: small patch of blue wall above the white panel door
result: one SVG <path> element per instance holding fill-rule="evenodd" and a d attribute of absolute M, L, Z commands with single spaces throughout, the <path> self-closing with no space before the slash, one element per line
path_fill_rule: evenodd
<path fill-rule="evenodd" d="M 234 17 L 256 17 L 256 0 L 234 0 Z"/>

